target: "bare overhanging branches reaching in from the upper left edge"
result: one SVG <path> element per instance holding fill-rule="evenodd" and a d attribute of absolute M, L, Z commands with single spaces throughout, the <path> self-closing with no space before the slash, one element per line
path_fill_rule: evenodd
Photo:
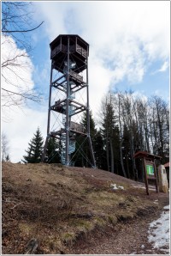
<path fill-rule="evenodd" d="M 20 107 L 27 101 L 40 101 L 40 94 L 33 89 L 32 50 L 29 33 L 43 22 L 34 26 L 28 2 L 2 3 L 2 107 Z M 5 114 L 6 115 L 6 114 Z"/>

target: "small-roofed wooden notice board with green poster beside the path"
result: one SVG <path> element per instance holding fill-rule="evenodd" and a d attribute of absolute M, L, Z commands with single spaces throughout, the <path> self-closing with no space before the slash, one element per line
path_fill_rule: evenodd
<path fill-rule="evenodd" d="M 144 166 L 144 182 L 146 187 L 146 193 L 149 195 L 149 182 L 148 180 L 154 180 L 156 186 L 156 192 L 158 192 L 158 182 L 156 175 L 156 159 L 161 160 L 161 156 L 152 155 L 145 151 L 139 151 L 135 153 L 134 158 L 141 158 Z"/>

